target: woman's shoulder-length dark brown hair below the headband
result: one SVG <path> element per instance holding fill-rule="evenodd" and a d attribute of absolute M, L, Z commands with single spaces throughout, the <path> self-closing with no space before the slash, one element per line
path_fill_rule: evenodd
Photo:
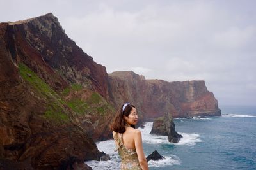
<path fill-rule="evenodd" d="M 116 112 L 116 116 L 110 125 L 110 129 L 112 131 L 122 133 L 122 134 L 125 132 L 125 125 L 126 125 L 126 122 L 123 116 L 125 115 L 126 117 L 128 117 L 129 114 L 131 113 L 132 108 L 135 108 L 135 106 L 133 106 L 132 104 L 127 104 L 127 106 L 125 106 L 125 109 L 123 111 L 123 106 L 124 104 L 122 104 L 118 112 Z M 131 125 L 131 127 L 135 128 L 134 125 Z"/>

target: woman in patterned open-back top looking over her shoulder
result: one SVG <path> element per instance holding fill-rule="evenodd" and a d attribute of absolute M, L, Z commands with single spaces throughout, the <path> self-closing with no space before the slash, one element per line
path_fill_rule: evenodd
<path fill-rule="evenodd" d="M 148 162 L 143 152 L 141 132 L 135 129 L 137 122 L 138 113 L 135 106 L 125 103 L 111 124 L 116 150 L 121 158 L 121 169 L 148 169 Z"/>

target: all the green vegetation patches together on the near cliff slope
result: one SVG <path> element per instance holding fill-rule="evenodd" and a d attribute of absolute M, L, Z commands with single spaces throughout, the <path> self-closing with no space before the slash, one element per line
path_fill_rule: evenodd
<path fill-rule="evenodd" d="M 19 64 L 19 72 L 22 78 L 25 81 L 28 81 L 29 85 L 34 89 L 33 92 L 35 92 L 36 96 L 42 97 L 47 101 L 47 110 L 43 117 L 49 120 L 53 120 L 60 124 L 68 122 L 69 116 L 65 106 L 68 106 L 72 111 L 79 115 L 96 114 L 102 116 L 109 113 L 109 111 L 114 110 L 113 106 L 109 105 L 97 92 L 92 92 L 91 96 L 86 100 L 76 98 L 64 101 L 61 99 L 61 96 L 66 96 L 72 91 L 82 92 L 83 87 L 80 84 L 73 83 L 71 87 L 63 90 L 60 96 L 26 65 Z"/>

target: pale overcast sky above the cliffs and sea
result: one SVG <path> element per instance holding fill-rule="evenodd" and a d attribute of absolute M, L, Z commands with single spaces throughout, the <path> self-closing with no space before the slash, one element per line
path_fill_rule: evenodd
<path fill-rule="evenodd" d="M 0 6 L 0 22 L 52 12 L 108 73 L 204 80 L 220 106 L 256 106 L 254 0 L 0 0 Z"/>

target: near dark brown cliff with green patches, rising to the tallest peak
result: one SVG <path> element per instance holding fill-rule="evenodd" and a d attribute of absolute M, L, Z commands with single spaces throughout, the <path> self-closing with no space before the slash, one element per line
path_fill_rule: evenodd
<path fill-rule="evenodd" d="M 100 160 L 91 137 L 104 138 L 109 121 L 100 114 L 113 112 L 104 99 L 107 84 L 105 67 L 76 46 L 51 13 L 1 23 L 1 167 L 86 169 L 84 160 Z"/>

